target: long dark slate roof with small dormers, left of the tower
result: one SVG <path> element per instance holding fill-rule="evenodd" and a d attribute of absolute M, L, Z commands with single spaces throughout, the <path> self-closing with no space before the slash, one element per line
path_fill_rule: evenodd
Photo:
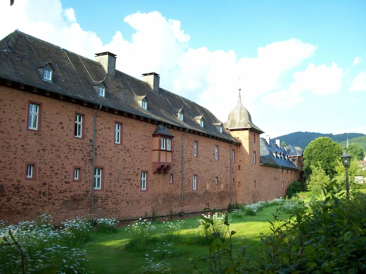
<path fill-rule="evenodd" d="M 220 120 L 195 102 L 162 88 L 159 93 L 153 93 L 147 83 L 118 70 L 115 77 L 108 75 L 100 63 L 21 31 L 15 30 L 3 38 L 0 49 L 0 78 L 94 104 L 100 103 L 108 108 L 189 128 L 231 142 L 234 140 L 228 131 L 223 130 L 220 133 L 212 124 L 221 123 Z M 42 79 L 42 67 L 48 63 L 54 69 L 52 82 Z M 95 87 L 101 82 L 106 87 L 105 98 L 98 96 L 98 89 Z M 136 100 L 145 95 L 148 101 L 147 110 L 142 109 Z M 184 122 L 173 113 L 173 110 L 182 109 L 182 106 Z M 210 122 L 205 123 L 204 128 L 194 119 L 202 115 Z M 238 143 L 237 140 L 235 142 Z"/>

